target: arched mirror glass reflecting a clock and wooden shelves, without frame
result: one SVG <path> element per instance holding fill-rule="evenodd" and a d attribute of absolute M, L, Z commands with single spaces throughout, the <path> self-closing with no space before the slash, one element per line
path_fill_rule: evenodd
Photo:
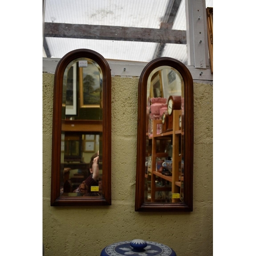
<path fill-rule="evenodd" d="M 170 96 L 175 106 L 167 104 Z M 183 202 L 184 81 L 180 73 L 168 66 L 154 69 L 147 80 L 147 102 L 145 202 Z"/>

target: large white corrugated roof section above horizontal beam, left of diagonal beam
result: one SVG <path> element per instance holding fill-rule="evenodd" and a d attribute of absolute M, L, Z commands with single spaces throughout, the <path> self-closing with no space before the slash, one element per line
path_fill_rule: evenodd
<path fill-rule="evenodd" d="M 45 22 L 159 28 L 168 0 L 47 0 Z"/>

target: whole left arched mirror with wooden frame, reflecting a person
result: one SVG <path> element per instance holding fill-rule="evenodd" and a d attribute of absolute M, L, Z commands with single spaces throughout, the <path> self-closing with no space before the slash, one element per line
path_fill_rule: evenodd
<path fill-rule="evenodd" d="M 51 206 L 111 205 L 111 71 L 78 49 L 55 71 Z"/>

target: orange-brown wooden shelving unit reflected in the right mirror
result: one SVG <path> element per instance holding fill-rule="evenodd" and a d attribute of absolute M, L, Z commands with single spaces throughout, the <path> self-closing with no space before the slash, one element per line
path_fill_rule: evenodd
<path fill-rule="evenodd" d="M 157 134 L 157 125 L 162 124 L 162 120 L 153 120 L 153 134 L 151 137 L 147 135 L 147 139 L 149 141 L 148 143 L 152 144 L 152 147 L 150 147 L 150 151 L 148 152 L 148 156 L 152 157 L 152 162 L 151 166 L 147 167 L 147 173 L 145 174 L 145 179 L 148 183 L 147 186 L 145 186 L 147 189 L 147 198 L 145 201 L 173 203 L 183 201 L 184 176 L 182 173 L 182 158 L 180 148 L 182 134 L 179 127 L 180 116 L 181 110 L 174 110 L 174 129 L 172 131 L 165 131 L 160 134 Z M 164 147 L 161 147 L 161 144 L 163 144 Z M 155 166 L 157 166 L 157 158 L 165 158 L 168 156 L 168 153 L 166 153 L 165 150 L 166 145 L 172 147 L 172 165 L 171 168 L 168 169 L 170 175 L 165 175 L 162 168 L 155 168 Z M 162 186 L 156 186 L 157 180 L 161 181 Z M 159 198 L 156 198 L 157 191 L 160 192 Z M 161 191 L 165 192 L 161 193 Z"/>

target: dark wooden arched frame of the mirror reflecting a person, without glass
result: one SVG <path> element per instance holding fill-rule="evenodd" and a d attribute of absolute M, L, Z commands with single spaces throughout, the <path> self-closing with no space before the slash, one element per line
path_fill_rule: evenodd
<path fill-rule="evenodd" d="M 61 109 L 63 75 L 69 63 L 78 58 L 90 58 L 97 62 L 102 70 L 102 197 L 71 197 L 60 195 Z M 73 50 L 63 56 L 58 62 L 54 76 L 51 206 L 71 205 L 111 205 L 111 69 L 103 56 L 89 49 Z"/>

